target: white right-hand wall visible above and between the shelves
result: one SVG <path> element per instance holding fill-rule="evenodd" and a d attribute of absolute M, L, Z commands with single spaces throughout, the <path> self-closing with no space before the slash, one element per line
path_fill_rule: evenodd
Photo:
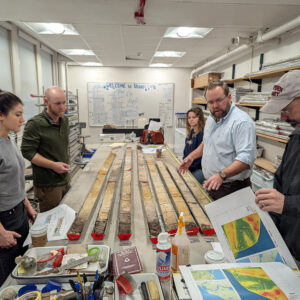
<path fill-rule="evenodd" d="M 255 72 L 259 70 L 259 58 L 260 54 L 264 53 L 264 62 L 278 62 L 281 60 L 293 58 L 299 56 L 300 49 L 300 30 L 286 33 L 280 39 L 274 39 L 265 43 L 263 45 L 256 46 L 253 51 L 249 49 L 245 53 L 241 54 L 239 57 L 232 57 L 230 60 L 219 63 L 218 65 L 210 67 L 211 70 L 223 72 L 222 78 L 231 79 L 232 74 L 232 64 L 235 64 L 235 78 L 243 77 L 247 73 Z M 205 69 L 203 73 L 209 72 L 210 70 Z M 270 92 L 274 83 L 279 79 L 279 77 L 265 78 L 262 81 L 262 92 Z M 246 87 L 252 88 L 254 91 L 257 90 L 257 85 L 255 83 L 243 81 L 235 84 L 235 87 Z M 243 108 L 248 112 L 251 117 L 255 117 L 254 109 Z M 260 113 L 260 119 L 265 118 L 279 118 L 279 114 L 270 115 Z M 258 137 L 258 144 L 264 147 L 265 151 L 263 157 L 270 161 L 275 161 L 277 155 L 281 155 L 284 151 L 285 144 L 280 142 L 275 142 Z"/>

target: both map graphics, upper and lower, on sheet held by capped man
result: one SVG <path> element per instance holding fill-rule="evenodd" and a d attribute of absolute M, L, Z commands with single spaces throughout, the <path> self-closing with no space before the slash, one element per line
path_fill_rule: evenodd
<path fill-rule="evenodd" d="M 283 262 L 258 213 L 226 223 L 222 228 L 237 262 Z"/>

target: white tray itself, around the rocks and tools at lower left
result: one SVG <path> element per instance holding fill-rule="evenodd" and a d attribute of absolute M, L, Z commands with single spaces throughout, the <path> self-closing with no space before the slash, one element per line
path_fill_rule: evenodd
<path fill-rule="evenodd" d="M 88 249 L 92 248 L 92 247 L 99 247 L 102 251 L 102 255 L 101 255 L 101 259 L 104 260 L 105 262 L 105 267 L 100 269 L 100 266 L 98 268 L 99 273 L 105 273 L 108 269 L 108 262 L 109 262 L 109 257 L 110 257 L 110 248 L 108 246 L 105 245 L 88 245 Z M 48 254 L 50 253 L 51 250 L 56 250 L 59 248 L 64 248 L 64 250 L 66 251 L 67 246 L 55 246 L 55 247 L 36 247 L 36 248 L 30 248 L 26 251 L 25 255 L 28 256 L 34 256 L 35 257 L 35 253 L 37 253 L 37 255 L 42 256 L 44 254 Z M 13 278 L 15 278 L 17 280 L 18 283 L 21 284 L 26 284 L 26 283 L 47 283 L 49 279 L 55 279 L 58 282 L 69 282 L 69 279 L 77 279 L 77 275 L 76 273 L 73 274 L 64 274 L 64 275 L 59 275 L 56 273 L 52 273 L 52 274 L 48 274 L 48 275 L 39 275 L 39 276 L 34 276 L 34 275 L 30 275 L 30 276 L 24 276 L 24 275 L 20 275 L 17 272 L 18 270 L 18 265 L 13 269 L 11 276 Z M 80 271 L 80 273 L 85 273 L 88 280 L 93 280 L 95 277 L 95 272 L 93 273 L 88 273 L 86 271 Z"/>

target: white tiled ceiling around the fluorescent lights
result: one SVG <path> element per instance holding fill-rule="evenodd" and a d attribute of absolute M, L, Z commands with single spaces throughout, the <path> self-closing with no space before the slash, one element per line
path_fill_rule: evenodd
<path fill-rule="evenodd" d="M 20 26 L 54 50 L 91 49 L 104 66 L 148 66 L 156 50 L 173 50 L 186 52 L 175 66 L 193 67 L 224 52 L 233 37 L 274 29 L 300 15 L 300 0 L 149 0 L 146 25 L 138 25 L 137 0 L 0 0 L 0 4 L 0 21 L 72 24 L 80 36 L 37 36 Z M 168 27 L 176 26 L 214 29 L 204 39 L 162 38 Z M 145 60 L 126 61 L 126 56 Z"/>

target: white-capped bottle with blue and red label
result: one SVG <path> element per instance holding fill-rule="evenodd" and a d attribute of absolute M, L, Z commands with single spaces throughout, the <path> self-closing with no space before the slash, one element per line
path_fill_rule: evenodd
<path fill-rule="evenodd" d="M 158 235 L 158 243 L 156 245 L 156 273 L 160 280 L 170 278 L 171 263 L 171 244 L 169 242 L 169 234 L 161 232 Z"/>

